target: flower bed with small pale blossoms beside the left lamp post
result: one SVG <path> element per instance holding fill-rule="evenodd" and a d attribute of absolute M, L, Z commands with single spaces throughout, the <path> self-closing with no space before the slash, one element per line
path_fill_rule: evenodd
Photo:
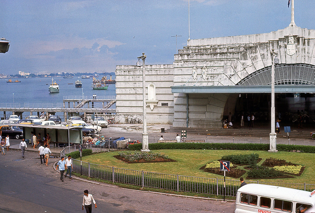
<path fill-rule="evenodd" d="M 122 160 L 126 163 L 155 163 L 155 162 L 176 162 L 169 158 L 168 155 L 161 154 L 160 152 L 139 152 L 135 151 L 134 153 L 127 152 L 118 152 L 119 155 L 113 157 Z"/>

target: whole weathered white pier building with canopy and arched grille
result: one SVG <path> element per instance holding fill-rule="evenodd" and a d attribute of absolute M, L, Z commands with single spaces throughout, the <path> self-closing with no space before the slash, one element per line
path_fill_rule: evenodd
<path fill-rule="evenodd" d="M 284 29 L 188 40 L 173 64 L 146 65 L 147 122 L 222 128 L 235 110 L 270 113 L 272 49 L 279 59 L 275 92 L 315 92 L 315 30 L 296 26 L 293 10 Z M 141 67 L 116 67 L 116 94 L 119 122 L 142 116 Z"/>

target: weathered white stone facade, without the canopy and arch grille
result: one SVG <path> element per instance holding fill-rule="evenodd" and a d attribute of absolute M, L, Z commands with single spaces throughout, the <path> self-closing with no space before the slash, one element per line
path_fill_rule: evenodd
<path fill-rule="evenodd" d="M 271 66 L 272 49 L 278 53 L 280 64 L 315 65 L 314 47 L 315 30 L 295 25 L 263 34 L 188 40 L 174 56 L 173 65 L 146 66 L 146 88 L 153 83 L 158 100 L 153 110 L 147 107 L 148 123 L 221 128 L 223 115 L 234 113 L 237 94 L 199 94 L 196 90 L 187 98 L 185 93 L 172 94 L 169 87 L 237 85 L 250 74 Z M 117 66 L 116 82 L 120 116 L 141 115 L 142 69 Z M 169 106 L 162 106 L 164 102 Z"/>

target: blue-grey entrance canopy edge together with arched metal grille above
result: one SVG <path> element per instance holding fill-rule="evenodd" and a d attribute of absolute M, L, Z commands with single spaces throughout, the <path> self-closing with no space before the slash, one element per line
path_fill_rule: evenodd
<path fill-rule="evenodd" d="M 230 86 L 172 86 L 172 93 L 271 93 L 271 66 L 260 69 Z M 315 66 L 278 64 L 275 66 L 275 92 L 314 93 Z"/>

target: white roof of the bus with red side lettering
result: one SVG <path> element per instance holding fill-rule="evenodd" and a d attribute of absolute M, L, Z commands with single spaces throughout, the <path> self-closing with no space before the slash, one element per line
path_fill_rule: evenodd
<path fill-rule="evenodd" d="M 264 197 L 277 198 L 283 200 L 296 201 L 313 204 L 315 199 L 310 197 L 311 192 L 287 187 L 278 187 L 257 183 L 246 184 L 238 189 L 238 192 L 256 194 Z"/>

